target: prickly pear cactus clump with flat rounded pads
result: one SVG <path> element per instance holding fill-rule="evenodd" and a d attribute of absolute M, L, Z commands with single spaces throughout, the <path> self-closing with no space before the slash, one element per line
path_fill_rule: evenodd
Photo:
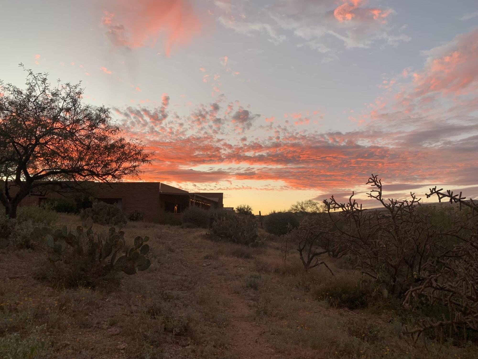
<path fill-rule="evenodd" d="M 124 232 L 114 227 L 108 233 L 95 233 L 91 228 L 68 231 L 66 226 L 53 230 L 45 228 L 46 244 L 50 248 L 49 266 L 38 277 L 65 287 L 114 284 L 117 273 L 136 274 L 146 270 L 151 261 L 147 258 L 149 237 L 137 236 L 134 246 L 126 246 Z"/>

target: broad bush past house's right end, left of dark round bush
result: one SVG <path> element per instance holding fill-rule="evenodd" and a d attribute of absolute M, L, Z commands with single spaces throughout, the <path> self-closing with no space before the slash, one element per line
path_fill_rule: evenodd
<path fill-rule="evenodd" d="M 216 240 L 234 242 L 246 246 L 259 246 L 257 224 L 250 217 L 228 214 L 214 221 L 208 233 Z"/>

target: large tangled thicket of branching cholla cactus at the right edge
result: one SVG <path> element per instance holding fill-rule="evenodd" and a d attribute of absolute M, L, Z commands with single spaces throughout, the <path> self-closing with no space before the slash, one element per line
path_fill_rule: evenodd
<path fill-rule="evenodd" d="M 353 200 L 324 201 L 335 225 L 336 240 L 352 259 L 355 269 L 372 278 L 409 306 L 446 308 L 441 319 L 422 318 L 405 331 L 419 335 L 447 326 L 478 330 L 478 205 L 453 192 L 434 189 L 427 197 L 460 204 L 463 212 L 420 208 L 414 193 L 407 201 L 384 200 L 382 184 L 372 175 L 367 182 L 376 189 L 369 197 L 384 207 L 364 211 Z M 332 211 L 340 210 L 339 213 Z M 458 208 L 456 208 L 456 211 Z M 466 331 L 465 331 L 466 333 Z"/>

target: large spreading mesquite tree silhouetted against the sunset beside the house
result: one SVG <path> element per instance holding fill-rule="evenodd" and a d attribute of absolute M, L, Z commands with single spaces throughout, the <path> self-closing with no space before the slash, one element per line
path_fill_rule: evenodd
<path fill-rule="evenodd" d="M 134 178 L 151 161 L 112 124 L 108 108 L 81 103 L 80 84 L 51 86 L 48 74 L 23 69 L 24 90 L 0 81 L 0 202 L 8 216 L 46 186 Z"/>

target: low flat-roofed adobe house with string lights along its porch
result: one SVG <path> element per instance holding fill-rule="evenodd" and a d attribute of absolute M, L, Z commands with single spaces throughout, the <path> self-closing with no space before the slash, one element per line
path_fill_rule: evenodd
<path fill-rule="evenodd" d="M 116 204 L 124 213 L 135 210 L 143 213 L 146 221 L 158 221 L 161 213 L 181 213 L 190 206 L 204 209 L 222 209 L 223 193 L 192 193 L 162 182 L 83 182 L 86 193 L 98 201 Z M 12 188 L 14 194 L 15 188 Z M 68 198 L 81 194 L 72 189 L 46 191 L 25 197 L 20 203 L 41 205 L 52 198 Z"/>

